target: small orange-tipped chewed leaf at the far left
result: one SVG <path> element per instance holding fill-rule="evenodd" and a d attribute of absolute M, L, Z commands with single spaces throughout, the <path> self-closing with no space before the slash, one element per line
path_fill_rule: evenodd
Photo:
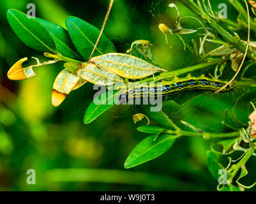
<path fill-rule="evenodd" d="M 7 77 L 10 80 L 24 80 L 27 78 L 32 78 L 36 76 L 34 73 L 32 66 L 29 66 L 28 68 L 22 68 L 22 63 L 27 61 L 27 57 L 24 57 L 17 61 L 13 66 L 9 69 L 7 73 Z"/>

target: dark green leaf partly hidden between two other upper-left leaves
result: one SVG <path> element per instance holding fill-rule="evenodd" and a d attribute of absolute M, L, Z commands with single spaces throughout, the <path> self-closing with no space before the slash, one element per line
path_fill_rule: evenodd
<path fill-rule="evenodd" d="M 57 52 L 72 59 L 82 59 L 81 55 L 75 49 L 66 29 L 41 18 L 36 18 L 36 20 L 40 22 L 52 36 Z"/>

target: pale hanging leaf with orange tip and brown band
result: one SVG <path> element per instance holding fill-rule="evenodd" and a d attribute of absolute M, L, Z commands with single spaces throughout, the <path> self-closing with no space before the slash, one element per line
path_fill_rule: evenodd
<path fill-rule="evenodd" d="M 86 82 L 86 80 L 77 77 L 68 69 L 63 69 L 57 75 L 52 88 L 52 105 L 59 106 L 72 90 L 78 89 Z"/>

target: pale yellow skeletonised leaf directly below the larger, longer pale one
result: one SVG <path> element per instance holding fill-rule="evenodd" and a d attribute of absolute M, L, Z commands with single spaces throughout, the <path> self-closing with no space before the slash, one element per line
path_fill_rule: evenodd
<path fill-rule="evenodd" d="M 77 76 L 97 85 L 112 85 L 116 82 L 123 82 L 123 79 L 115 73 L 103 68 L 99 68 L 93 63 L 84 63 L 77 71 Z"/>

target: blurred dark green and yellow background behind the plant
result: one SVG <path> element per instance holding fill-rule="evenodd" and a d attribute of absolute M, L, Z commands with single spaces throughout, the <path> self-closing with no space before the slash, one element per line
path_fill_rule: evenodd
<path fill-rule="evenodd" d="M 13 33 L 6 20 L 10 8 L 27 12 L 27 4 L 36 5 L 36 17 L 65 27 L 64 20 L 73 15 L 100 28 L 109 1 L 68 0 L 0 0 L 0 190 L 1 191 L 215 191 L 217 182 L 207 170 L 210 142 L 200 138 L 179 139 L 166 154 L 148 163 L 125 170 L 124 161 L 130 151 L 147 135 L 136 128 L 145 121 L 133 124 L 132 116 L 139 113 L 136 106 L 115 106 L 91 124 L 83 123 L 84 112 L 93 100 L 93 85 L 86 84 L 72 91 L 64 103 L 51 105 L 54 79 L 61 66 L 36 68 L 36 77 L 25 81 L 11 81 L 8 69 L 22 57 L 39 57 L 40 52 L 26 47 Z M 181 16 L 193 15 L 177 1 Z M 172 70 L 196 63 L 197 59 L 177 36 L 169 36 L 170 49 L 158 24 L 173 25 L 176 11 L 168 8 L 170 1 L 116 0 L 104 33 L 116 45 L 117 52 L 126 52 L 135 40 L 153 43 L 154 61 Z M 216 10 L 217 3 L 213 4 Z M 230 8 L 230 15 L 236 11 Z M 234 20 L 234 19 L 233 19 Z M 186 28 L 200 25 L 184 20 Z M 246 34 L 246 33 L 245 33 Z M 198 42 L 198 34 L 193 34 Z M 242 34 L 243 36 L 243 34 Z M 246 35 L 245 35 L 246 36 Z M 186 36 L 190 38 L 190 36 Z M 206 50 L 213 46 L 209 43 Z M 192 73 L 199 75 L 209 71 Z M 213 69 L 211 69 L 213 73 Z M 229 70 L 227 70 L 229 73 Z M 248 73 L 252 76 L 254 73 Z M 225 75 L 223 75 L 225 77 Z M 230 131 L 222 126 L 225 109 L 231 110 L 243 91 L 206 94 L 193 99 L 184 107 L 167 103 L 165 112 L 176 122 L 186 120 L 197 128 L 220 133 Z M 181 95 L 178 96 L 183 97 Z M 191 98 L 190 93 L 184 97 Z M 248 100 L 241 100 L 236 113 L 247 122 L 252 108 Z M 229 98 L 229 100 L 227 100 Z M 202 103 L 204 101 L 204 103 Z M 211 107 L 211 108 L 209 108 Z M 239 126 L 232 115 L 230 122 Z M 239 154 L 237 154 L 239 157 Z M 250 171 L 256 165 L 248 166 Z M 36 185 L 28 185 L 26 172 L 36 171 Z M 254 177 L 254 178 L 253 178 Z M 255 176 L 250 174 L 249 183 Z"/>

